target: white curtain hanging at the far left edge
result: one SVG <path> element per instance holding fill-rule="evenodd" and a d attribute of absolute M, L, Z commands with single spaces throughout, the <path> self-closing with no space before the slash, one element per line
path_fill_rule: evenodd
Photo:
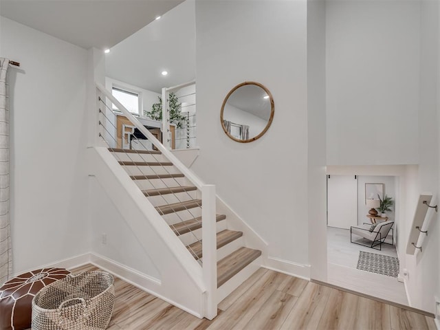
<path fill-rule="evenodd" d="M 0 285 L 12 275 L 9 221 L 9 100 L 8 58 L 0 58 Z"/>

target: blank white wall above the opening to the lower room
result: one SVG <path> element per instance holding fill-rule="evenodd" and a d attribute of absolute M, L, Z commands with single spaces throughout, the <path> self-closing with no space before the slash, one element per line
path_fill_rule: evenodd
<path fill-rule="evenodd" d="M 419 1 L 327 1 L 327 164 L 417 164 Z"/>

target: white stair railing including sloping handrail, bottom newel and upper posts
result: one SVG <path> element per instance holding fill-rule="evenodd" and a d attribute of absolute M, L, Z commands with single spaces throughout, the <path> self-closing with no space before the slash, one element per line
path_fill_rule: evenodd
<path fill-rule="evenodd" d="M 193 82 L 192 82 L 193 83 Z M 188 83 L 188 85 L 192 84 Z M 184 87 L 181 85 L 180 87 Z M 173 89 L 175 87 L 171 87 Z M 212 320 L 215 316 L 217 316 L 217 238 L 216 238 L 216 195 L 215 195 L 215 187 L 213 185 L 204 184 L 201 179 L 199 179 L 194 173 L 192 173 L 182 162 L 180 162 L 170 150 L 164 146 L 157 138 L 150 132 L 142 123 L 135 118 L 135 116 L 128 111 L 112 94 L 110 91 L 105 89 L 103 85 L 100 83 L 96 83 L 96 95 L 98 96 L 98 109 L 100 110 L 100 103 L 104 103 L 103 98 L 107 98 L 111 103 L 115 104 L 126 118 L 128 118 L 133 126 L 135 126 L 147 139 L 157 148 L 158 151 L 164 155 L 173 165 L 185 175 L 186 179 L 188 179 L 197 189 L 201 192 L 202 199 L 202 254 L 203 254 L 203 263 L 202 273 L 203 273 L 203 284 L 205 285 L 205 317 Z M 162 100 L 166 100 L 166 95 L 162 94 Z M 162 107 L 164 109 L 164 107 Z M 166 117 L 164 117 L 166 118 Z M 167 133 L 169 136 L 169 120 L 166 121 L 168 123 L 168 128 L 164 127 L 164 137 L 162 140 L 164 142 L 170 142 L 168 137 L 166 137 Z M 98 132 L 96 146 L 102 146 L 102 133 L 100 133 L 100 126 L 103 126 L 97 117 L 96 122 L 96 132 Z M 167 125 L 165 125 L 167 126 Z M 105 127 L 104 127 L 105 129 Z M 104 132 L 104 135 L 106 132 Z M 100 138 L 102 137 L 102 138 Z M 168 144 L 169 145 L 169 144 Z"/>

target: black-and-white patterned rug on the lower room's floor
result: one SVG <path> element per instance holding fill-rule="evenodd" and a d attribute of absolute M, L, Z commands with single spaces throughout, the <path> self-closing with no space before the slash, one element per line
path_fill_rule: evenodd
<path fill-rule="evenodd" d="M 376 274 L 397 277 L 399 274 L 399 259 L 396 256 L 384 256 L 371 252 L 359 252 L 358 270 Z"/>

